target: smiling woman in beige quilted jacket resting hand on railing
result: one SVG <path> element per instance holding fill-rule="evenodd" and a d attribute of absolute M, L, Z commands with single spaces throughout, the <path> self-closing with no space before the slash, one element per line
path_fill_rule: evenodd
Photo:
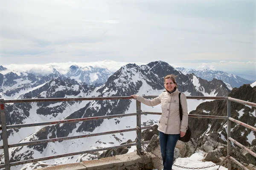
<path fill-rule="evenodd" d="M 180 122 L 179 91 L 175 77 L 173 74 L 164 77 L 163 82 L 166 91 L 163 91 L 160 96 L 153 100 L 144 99 L 142 96 L 135 94 L 131 95 L 134 99 L 148 106 L 155 106 L 161 103 L 162 115 L 157 130 L 159 130 L 163 170 L 172 170 L 175 145 L 179 137 L 185 135 L 188 126 L 188 107 L 186 96 L 183 93 L 180 95 L 183 111 L 182 122 Z"/>

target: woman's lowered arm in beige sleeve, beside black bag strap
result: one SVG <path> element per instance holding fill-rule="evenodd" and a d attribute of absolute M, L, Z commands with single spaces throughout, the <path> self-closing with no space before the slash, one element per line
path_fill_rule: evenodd
<path fill-rule="evenodd" d="M 188 104 L 187 104 L 185 94 L 180 95 L 180 103 L 182 106 L 182 121 L 181 121 L 180 131 L 186 132 L 188 127 L 189 114 L 188 114 Z"/>

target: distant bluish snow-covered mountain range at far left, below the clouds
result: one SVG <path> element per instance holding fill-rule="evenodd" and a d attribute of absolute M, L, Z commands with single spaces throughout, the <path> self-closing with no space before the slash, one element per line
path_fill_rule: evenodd
<path fill-rule="evenodd" d="M 4 72 L 6 73 L 6 70 Z M 62 80 L 70 77 L 81 85 L 100 86 L 103 85 L 112 74 L 113 72 L 105 68 L 82 68 L 76 65 L 70 66 L 66 74 L 60 74 L 55 68 L 52 68 L 52 72 L 49 74 L 38 74 L 33 70 L 21 73 L 10 71 L 6 74 L 0 73 L 0 96 L 4 99 L 14 99 L 58 77 Z"/>

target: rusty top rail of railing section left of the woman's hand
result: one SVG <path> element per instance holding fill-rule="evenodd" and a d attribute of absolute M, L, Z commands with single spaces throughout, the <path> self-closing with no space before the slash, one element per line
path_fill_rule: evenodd
<path fill-rule="evenodd" d="M 134 99 L 131 96 L 115 96 L 115 97 L 75 97 L 75 98 L 40 98 L 40 99 L 6 99 L 5 103 L 23 103 L 23 102 L 67 102 L 82 100 L 118 100 L 118 99 Z"/>

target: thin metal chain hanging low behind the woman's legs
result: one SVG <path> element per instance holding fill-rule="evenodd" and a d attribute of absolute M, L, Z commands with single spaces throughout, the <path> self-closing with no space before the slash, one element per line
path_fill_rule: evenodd
<path fill-rule="evenodd" d="M 136 127 L 137 128 L 137 130 L 140 130 L 140 127 Z M 137 138 L 138 138 L 138 135 L 137 135 Z M 144 159 L 145 159 L 145 157 L 144 157 L 144 155 L 145 155 L 145 153 L 147 153 L 149 156 L 150 156 L 150 153 L 152 153 L 154 156 L 156 156 L 158 159 L 160 159 L 160 160 L 163 160 L 162 158 L 160 158 L 159 156 L 157 156 L 155 153 L 153 153 L 153 152 L 150 152 L 150 153 L 148 153 L 146 150 L 147 150 L 147 147 L 145 146 L 145 144 L 143 144 L 141 141 L 139 141 L 140 142 L 140 144 L 141 144 L 141 146 L 142 146 L 142 149 L 143 149 L 143 167 L 144 167 Z M 137 150 L 137 153 L 139 153 L 140 154 L 140 152 Z M 141 156 L 141 154 L 140 154 L 140 156 Z M 221 161 L 221 163 L 219 164 L 219 167 L 217 168 L 217 170 L 219 170 L 219 168 L 221 167 L 221 165 L 223 164 L 223 162 L 224 162 L 224 160 L 226 160 L 226 159 L 228 159 L 230 157 L 230 155 L 228 155 L 228 156 L 226 156 L 222 161 Z M 152 159 L 154 159 L 154 158 L 152 158 Z M 157 161 L 156 159 L 154 159 L 154 161 Z M 157 163 L 159 163 L 159 164 L 161 164 L 161 165 L 163 165 L 162 163 L 160 163 L 159 161 L 157 161 Z M 175 165 L 175 164 L 172 164 L 173 166 L 176 166 L 176 167 L 180 167 L 180 168 L 183 168 L 183 169 L 192 169 L 192 170 L 199 170 L 199 169 L 205 169 L 205 168 L 210 168 L 210 167 L 215 167 L 215 166 L 217 166 L 217 164 L 212 164 L 212 165 L 210 165 L 210 166 L 207 166 L 207 167 L 183 167 L 183 166 L 180 166 L 180 165 Z"/>

